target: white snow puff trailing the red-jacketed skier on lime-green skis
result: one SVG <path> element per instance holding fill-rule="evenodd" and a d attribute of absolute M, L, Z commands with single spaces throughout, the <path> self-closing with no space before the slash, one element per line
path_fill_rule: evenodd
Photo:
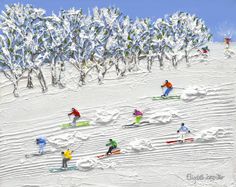
<path fill-rule="evenodd" d="M 118 110 L 97 110 L 96 123 L 109 124 L 119 117 Z"/>

